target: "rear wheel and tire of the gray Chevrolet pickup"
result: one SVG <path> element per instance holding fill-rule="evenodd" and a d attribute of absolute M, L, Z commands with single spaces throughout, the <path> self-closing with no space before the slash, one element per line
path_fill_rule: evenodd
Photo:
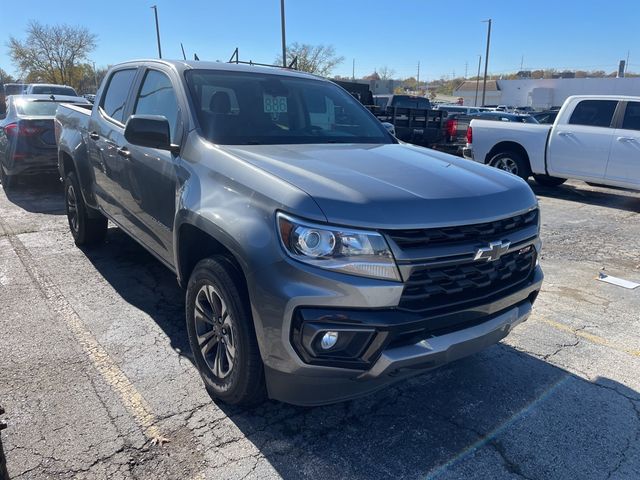
<path fill-rule="evenodd" d="M 64 200 L 69 230 L 76 245 L 80 247 L 104 241 L 107 235 L 107 219 L 95 211 L 91 217 L 89 216 L 89 207 L 84 203 L 75 172 L 69 172 L 64 179 Z"/>

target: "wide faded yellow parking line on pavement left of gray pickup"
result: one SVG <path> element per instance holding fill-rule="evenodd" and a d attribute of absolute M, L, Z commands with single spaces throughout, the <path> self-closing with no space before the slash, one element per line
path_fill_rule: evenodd
<path fill-rule="evenodd" d="M 18 255 L 18 258 L 24 265 L 35 286 L 42 292 L 49 308 L 56 313 L 59 318 L 64 320 L 69 330 L 82 346 L 91 363 L 107 384 L 109 384 L 120 397 L 122 404 L 141 427 L 145 436 L 155 443 L 167 442 L 168 440 L 161 435 L 158 427 L 155 425 L 155 417 L 145 398 L 138 392 L 113 358 L 109 356 L 104 347 L 100 345 L 98 340 L 96 340 L 93 334 L 87 329 L 60 288 L 48 275 L 37 267 L 31 252 L 17 236 L 9 231 L 6 223 L 0 220 L 0 227 L 6 232 L 13 250 Z"/>

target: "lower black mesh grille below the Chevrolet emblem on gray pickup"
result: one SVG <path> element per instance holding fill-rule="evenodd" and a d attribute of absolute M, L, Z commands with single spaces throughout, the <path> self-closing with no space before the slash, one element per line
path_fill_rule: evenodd
<path fill-rule="evenodd" d="M 493 262 L 471 261 L 454 266 L 416 266 L 406 282 L 399 308 L 427 312 L 480 305 L 527 280 L 536 264 L 529 245 Z"/>

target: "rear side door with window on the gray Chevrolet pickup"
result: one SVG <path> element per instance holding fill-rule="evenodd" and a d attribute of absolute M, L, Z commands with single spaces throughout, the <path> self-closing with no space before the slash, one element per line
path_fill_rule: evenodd
<path fill-rule="evenodd" d="M 123 68 L 111 73 L 97 111 L 89 120 L 87 154 L 93 167 L 94 193 L 102 209 L 120 226 L 131 228 L 124 205 L 127 197 L 128 159 L 123 154 L 124 124 L 129 97 L 138 69 Z"/>

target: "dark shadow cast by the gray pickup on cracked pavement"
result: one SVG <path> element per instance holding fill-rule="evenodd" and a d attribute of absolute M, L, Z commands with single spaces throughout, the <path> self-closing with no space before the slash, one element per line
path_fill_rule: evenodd
<path fill-rule="evenodd" d="M 172 273 L 115 228 L 86 255 L 190 358 L 184 292 Z M 589 382 L 505 344 L 337 405 L 219 408 L 284 479 L 587 479 L 612 472 L 639 478 L 640 472 L 638 392 L 606 378 Z M 200 441 L 223 449 L 233 441 L 216 436 L 217 421 L 200 429 L 206 430 Z"/>

